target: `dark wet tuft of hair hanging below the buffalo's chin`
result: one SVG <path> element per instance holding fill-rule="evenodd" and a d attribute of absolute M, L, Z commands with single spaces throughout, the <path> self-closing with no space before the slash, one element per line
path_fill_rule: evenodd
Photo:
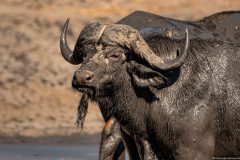
<path fill-rule="evenodd" d="M 76 121 L 77 127 L 80 127 L 81 130 L 83 129 L 84 120 L 87 115 L 87 110 L 88 110 L 88 96 L 86 94 L 83 94 L 78 105 Z"/>

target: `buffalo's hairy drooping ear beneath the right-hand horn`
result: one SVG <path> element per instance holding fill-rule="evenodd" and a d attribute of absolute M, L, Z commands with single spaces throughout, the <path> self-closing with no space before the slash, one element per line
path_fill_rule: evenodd
<path fill-rule="evenodd" d="M 168 79 L 164 75 L 135 61 L 129 63 L 128 72 L 132 77 L 132 83 L 141 88 L 161 89 L 168 84 Z"/>

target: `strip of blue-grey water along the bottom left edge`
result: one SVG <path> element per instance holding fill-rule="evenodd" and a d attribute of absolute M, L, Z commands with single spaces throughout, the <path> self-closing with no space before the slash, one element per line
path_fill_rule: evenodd
<path fill-rule="evenodd" d="M 0 160 L 96 160 L 98 145 L 0 144 Z"/>

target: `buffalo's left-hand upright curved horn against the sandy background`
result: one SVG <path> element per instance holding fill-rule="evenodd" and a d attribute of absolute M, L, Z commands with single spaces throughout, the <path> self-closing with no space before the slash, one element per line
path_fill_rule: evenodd
<path fill-rule="evenodd" d="M 63 26 L 63 30 L 61 33 L 60 37 L 60 48 L 61 48 L 61 54 L 63 58 L 68 61 L 71 64 L 80 64 L 82 62 L 81 58 L 74 58 L 73 51 L 69 48 L 68 43 L 67 43 L 67 29 L 68 29 L 68 23 L 69 23 L 70 18 L 68 18 Z"/>

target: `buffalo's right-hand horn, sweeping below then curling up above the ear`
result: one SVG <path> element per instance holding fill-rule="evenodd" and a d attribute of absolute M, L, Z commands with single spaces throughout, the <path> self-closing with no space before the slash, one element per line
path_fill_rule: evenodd
<path fill-rule="evenodd" d="M 146 44 L 144 39 L 139 35 L 137 41 L 131 42 L 131 49 L 152 67 L 152 69 L 169 71 L 174 70 L 183 65 L 189 52 L 189 37 L 188 29 L 185 31 L 185 46 L 179 56 L 167 62 L 164 62 L 161 57 L 157 56 L 150 47 Z"/>

